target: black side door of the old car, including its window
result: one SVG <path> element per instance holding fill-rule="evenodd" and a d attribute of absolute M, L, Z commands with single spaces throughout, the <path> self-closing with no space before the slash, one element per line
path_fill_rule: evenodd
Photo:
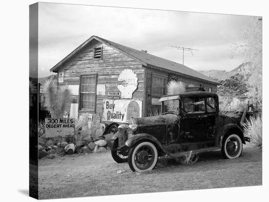
<path fill-rule="evenodd" d="M 181 99 L 179 143 L 205 141 L 205 98 L 188 97 Z"/>

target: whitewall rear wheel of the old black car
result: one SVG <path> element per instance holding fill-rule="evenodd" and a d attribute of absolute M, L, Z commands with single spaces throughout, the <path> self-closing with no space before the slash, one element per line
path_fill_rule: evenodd
<path fill-rule="evenodd" d="M 240 157 L 243 150 L 243 143 L 237 134 L 229 134 L 224 138 L 222 153 L 226 159 Z"/>

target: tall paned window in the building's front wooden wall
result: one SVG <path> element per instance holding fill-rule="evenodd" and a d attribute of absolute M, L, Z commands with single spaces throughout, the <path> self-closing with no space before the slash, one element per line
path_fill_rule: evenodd
<path fill-rule="evenodd" d="M 81 76 L 80 109 L 95 110 L 96 75 Z"/>

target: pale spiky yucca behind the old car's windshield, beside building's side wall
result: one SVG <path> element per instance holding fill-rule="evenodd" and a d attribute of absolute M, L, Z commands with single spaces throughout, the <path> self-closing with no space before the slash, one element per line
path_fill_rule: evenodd
<path fill-rule="evenodd" d="M 186 91 L 186 85 L 181 81 L 171 80 L 167 83 L 167 95 L 180 94 Z M 177 112 L 179 101 L 168 101 L 167 111 Z"/>

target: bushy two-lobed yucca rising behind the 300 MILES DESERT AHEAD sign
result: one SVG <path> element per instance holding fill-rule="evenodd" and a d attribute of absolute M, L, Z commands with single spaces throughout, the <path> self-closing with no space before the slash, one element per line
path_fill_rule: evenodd
<path fill-rule="evenodd" d="M 45 107 L 53 118 L 63 118 L 67 105 L 70 103 L 71 92 L 68 86 L 62 86 L 57 90 L 57 86 L 52 79 L 44 84 Z"/>

